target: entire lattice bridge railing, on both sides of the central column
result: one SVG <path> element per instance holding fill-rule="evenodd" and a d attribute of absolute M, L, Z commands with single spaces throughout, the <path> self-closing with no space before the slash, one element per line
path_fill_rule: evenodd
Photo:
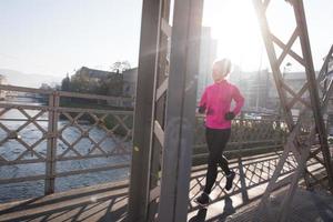
<path fill-rule="evenodd" d="M 0 185 L 40 181 L 48 194 L 63 190 L 57 186 L 64 179 L 70 180 L 64 189 L 71 189 L 71 183 L 87 185 L 80 179 L 83 174 L 90 174 L 93 182 L 103 182 L 94 173 L 110 171 L 128 179 L 131 99 L 12 85 L 0 85 L 0 90 L 29 93 L 29 98 L 34 95 L 40 101 L 17 102 L 11 98 L 0 103 L 0 172 L 4 172 L 0 174 Z M 276 115 L 253 119 L 246 114 L 233 121 L 226 154 L 281 147 L 285 130 Z M 206 157 L 203 121 L 198 115 L 194 164 Z"/>

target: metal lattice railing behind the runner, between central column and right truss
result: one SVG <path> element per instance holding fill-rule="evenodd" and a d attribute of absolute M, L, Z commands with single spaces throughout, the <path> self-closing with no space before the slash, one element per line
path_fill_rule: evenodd
<path fill-rule="evenodd" d="M 260 152 L 271 152 L 282 148 L 287 134 L 286 125 L 276 114 L 249 117 L 243 111 L 233 122 L 231 138 L 225 148 L 225 154 L 251 155 Z M 263 114 L 263 113 L 261 113 Z M 194 163 L 206 159 L 206 143 L 204 133 L 204 117 L 198 115 L 195 129 Z"/>

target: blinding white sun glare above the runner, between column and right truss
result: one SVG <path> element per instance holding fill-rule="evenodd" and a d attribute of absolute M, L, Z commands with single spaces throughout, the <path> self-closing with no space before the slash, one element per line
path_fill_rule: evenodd
<path fill-rule="evenodd" d="M 203 26 L 219 41 L 218 58 L 230 58 L 244 70 L 258 70 L 263 43 L 250 0 L 205 0 Z"/>

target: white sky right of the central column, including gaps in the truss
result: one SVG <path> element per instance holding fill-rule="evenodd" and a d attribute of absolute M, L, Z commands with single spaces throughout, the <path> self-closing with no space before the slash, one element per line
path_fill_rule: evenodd
<path fill-rule="evenodd" d="M 315 69 L 320 69 L 323 57 L 333 44 L 333 1 L 304 0 L 305 16 L 311 41 Z M 269 26 L 272 32 L 285 43 L 295 29 L 292 7 L 284 0 L 271 0 L 268 8 Z M 266 51 L 261 37 L 258 18 L 252 0 L 205 0 L 203 24 L 212 27 L 213 38 L 219 40 L 218 57 L 230 58 L 243 70 L 255 71 L 269 68 Z M 301 54 L 300 43 L 293 50 Z M 278 54 L 281 53 L 276 48 Z M 301 67 L 295 60 L 290 71 L 299 71 Z"/>

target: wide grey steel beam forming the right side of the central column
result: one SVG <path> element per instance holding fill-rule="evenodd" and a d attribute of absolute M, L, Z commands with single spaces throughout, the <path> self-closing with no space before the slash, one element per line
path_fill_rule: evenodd
<path fill-rule="evenodd" d="M 203 2 L 175 0 L 159 221 L 186 221 Z"/>

